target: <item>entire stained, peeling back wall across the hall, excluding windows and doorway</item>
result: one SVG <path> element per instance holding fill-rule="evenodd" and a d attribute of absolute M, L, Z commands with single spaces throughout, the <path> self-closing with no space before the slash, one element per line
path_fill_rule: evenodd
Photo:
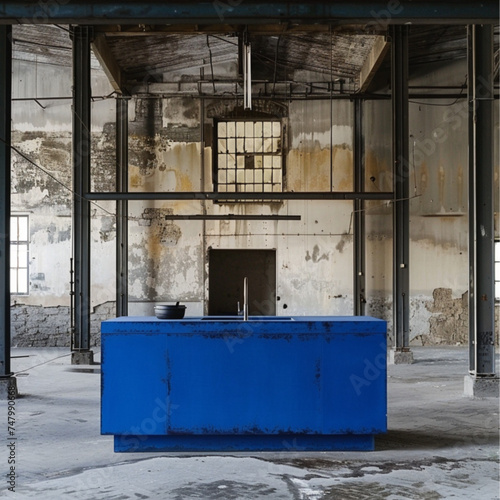
<path fill-rule="evenodd" d="M 463 78 L 457 63 L 413 84 L 450 84 Z M 43 76 L 41 76 L 43 75 Z M 450 76 L 451 75 L 451 76 Z M 50 78 L 53 85 L 40 86 Z M 68 68 L 15 65 L 17 96 L 70 95 Z M 94 94 L 106 94 L 104 74 L 94 72 Z M 442 106 L 436 106 L 442 104 Z M 257 109 L 278 112 L 267 101 Z M 132 191 L 212 189 L 212 120 L 234 111 L 228 101 L 131 99 L 129 188 Z M 283 108 L 283 107 L 280 107 Z M 113 100 L 92 108 L 93 189 L 113 190 Z M 350 191 L 353 188 L 353 104 L 292 101 L 286 105 L 288 190 Z M 389 191 L 390 101 L 364 105 L 366 189 Z M 467 310 L 467 122 L 464 103 L 421 101 L 410 106 L 411 338 L 414 343 L 466 341 Z M 498 130 L 498 111 L 495 126 Z M 13 211 L 30 215 L 30 294 L 13 297 L 14 344 L 69 342 L 71 257 L 71 109 L 54 101 L 13 107 L 13 141 L 37 165 L 13 156 Z M 496 145 L 498 193 L 498 145 Z M 54 181 L 48 174 L 62 184 Z M 278 314 L 351 314 L 352 202 L 203 201 L 129 204 L 130 314 L 152 314 L 156 302 L 182 301 L 188 315 L 207 311 L 209 248 L 276 249 Z M 92 304 L 96 318 L 112 316 L 114 300 L 114 203 L 92 209 Z M 496 205 L 498 213 L 498 200 Z M 296 214 L 300 221 L 169 221 L 168 214 Z M 367 311 L 391 323 L 392 208 L 366 203 Z M 497 216 L 498 221 L 498 216 Z M 498 225 L 497 225 L 498 231 Z M 265 312 L 265 305 L 262 305 Z M 100 309 L 101 308 L 101 309 Z M 35 319 L 30 319 L 35 318 Z M 38 320 L 36 320 L 38 318 Z M 45 319 L 41 319 L 45 318 Z M 36 325 L 42 325 L 43 329 Z M 497 323 L 498 324 L 498 323 Z M 38 328 L 38 329 L 36 329 Z M 50 330 L 53 334 L 50 334 Z M 42 331 L 43 330 L 43 331 Z M 62 333 L 61 333 L 62 332 Z M 93 327 L 93 342 L 98 342 Z M 30 344 L 31 343 L 31 344 Z"/>

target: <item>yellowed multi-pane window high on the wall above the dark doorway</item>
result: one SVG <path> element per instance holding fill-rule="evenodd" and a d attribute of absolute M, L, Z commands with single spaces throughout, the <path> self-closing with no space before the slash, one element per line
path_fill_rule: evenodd
<path fill-rule="evenodd" d="M 216 130 L 216 191 L 282 191 L 280 121 L 219 121 Z"/>

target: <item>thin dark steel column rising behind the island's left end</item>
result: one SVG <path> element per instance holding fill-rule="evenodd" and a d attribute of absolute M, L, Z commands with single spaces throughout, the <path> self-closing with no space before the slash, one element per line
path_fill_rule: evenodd
<path fill-rule="evenodd" d="M 116 99 L 116 190 L 128 191 L 128 98 Z M 128 316 L 128 201 L 116 202 L 116 315 Z"/>

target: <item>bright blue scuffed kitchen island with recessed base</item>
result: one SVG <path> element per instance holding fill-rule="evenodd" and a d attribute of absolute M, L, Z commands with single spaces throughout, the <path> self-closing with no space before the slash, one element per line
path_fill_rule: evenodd
<path fill-rule="evenodd" d="M 385 321 L 121 317 L 101 333 L 115 451 L 373 450 L 387 430 Z"/>

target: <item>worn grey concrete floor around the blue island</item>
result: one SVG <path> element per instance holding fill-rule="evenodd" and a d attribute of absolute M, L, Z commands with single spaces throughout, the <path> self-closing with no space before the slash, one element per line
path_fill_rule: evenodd
<path fill-rule="evenodd" d="M 413 365 L 389 367 L 389 432 L 368 453 L 115 454 L 99 433 L 99 366 L 71 366 L 67 349 L 13 349 L 16 493 L 55 500 L 441 498 L 499 494 L 499 400 L 462 396 L 467 348 L 413 349 Z M 99 359 L 98 356 L 96 356 Z M 43 364 L 42 364 L 43 363 Z M 39 366 L 37 366 L 39 365 Z M 498 369 L 497 369 L 498 373 Z M 0 429 L 7 435 L 6 402 Z"/>

